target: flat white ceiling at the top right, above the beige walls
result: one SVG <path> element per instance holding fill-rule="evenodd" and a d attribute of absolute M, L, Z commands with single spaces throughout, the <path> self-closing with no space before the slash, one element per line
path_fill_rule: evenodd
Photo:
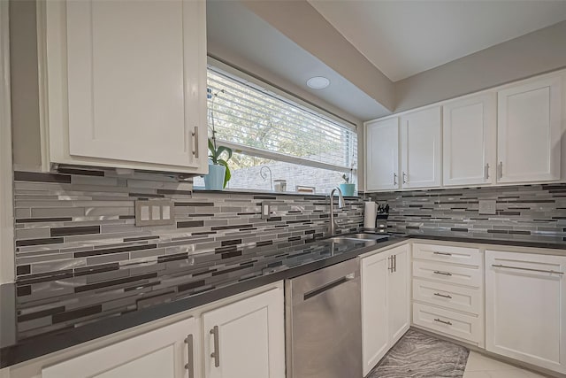
<path fill-rule="evenodd" d="M 566 19 L 564 0 L 309 2 L 392 81 Z"/>

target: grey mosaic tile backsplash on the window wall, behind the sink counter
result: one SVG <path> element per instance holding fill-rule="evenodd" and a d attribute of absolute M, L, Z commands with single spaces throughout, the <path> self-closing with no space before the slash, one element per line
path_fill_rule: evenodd
<path fill-rule="evenodd" d="M 136 227 L 134 201 L 169 198 L 171 226 Z M 214 252 L 213 264 L 248 248 L 308 243 L 328 227 L 323 196 L 194 192 L 191 181 L 165 174 L 120 176 L 68 169 L 14 173 L 18 281 L 100 274 L 135 265 Z M 263 201 L 272 217 L 261 219 Z M 348 198 L 337 220 L 345 230 L 363 222 L 361 199 Z"/>

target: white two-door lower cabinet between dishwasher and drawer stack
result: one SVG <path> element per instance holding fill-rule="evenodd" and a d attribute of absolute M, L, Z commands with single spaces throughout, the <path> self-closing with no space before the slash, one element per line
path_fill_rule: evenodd
<path fill-rule="evenodd" d="M 363 375 L 410 326 L 409 244 L 362 259 Z"/>

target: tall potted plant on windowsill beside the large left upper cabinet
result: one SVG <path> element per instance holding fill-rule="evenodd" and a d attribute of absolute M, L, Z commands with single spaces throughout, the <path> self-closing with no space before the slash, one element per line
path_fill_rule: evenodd
<path fill-rule="evenodd" d="M 218 146 L 216 143 L 216 129 L 214 128 L 214 100 L 218 93 L 224 93 L 224 89 L 219 90 L 217 93 L 212 94 L 210 89 L 207 89 L 207 98 L 210 101 L 210 124 L 212 136 L 209 138 L 209 174 L 203 176 L 204 188 L 209 190 L 222 190 L 226 188 L 226 183 L 232 177 L 228 160 L 232 158 L 232 149 L 226 146 Z M 226 158 L 220 156 L 226 152 Z"/>

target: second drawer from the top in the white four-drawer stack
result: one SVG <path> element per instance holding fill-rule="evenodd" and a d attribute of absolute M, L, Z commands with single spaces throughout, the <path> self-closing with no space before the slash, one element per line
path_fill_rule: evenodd
<path fill-rule="evenodd" d="M 452 266 L 432 261 L 413 261 L 413 277 L 479 288 L 483 281 L 482 275 L 479 267 Z"/>

